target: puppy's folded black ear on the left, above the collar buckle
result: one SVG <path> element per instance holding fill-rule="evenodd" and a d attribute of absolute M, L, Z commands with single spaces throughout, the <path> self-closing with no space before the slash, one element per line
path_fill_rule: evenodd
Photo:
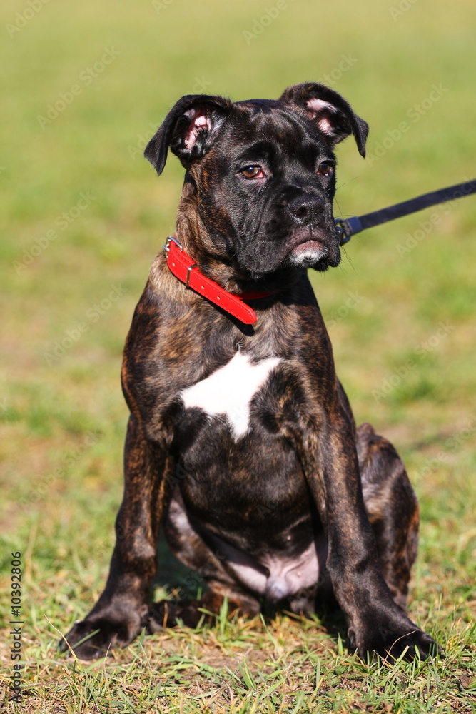
<path fill-rule="evenodd" d="M 208 94 L 187 94 L 179 99 L 144 151 L 157 174 L 160 176 L 166 165 L 169 146 L 186 169 L 192 161 L 201 159 L 213 144 L 232 106 L 229 99 Z"/>

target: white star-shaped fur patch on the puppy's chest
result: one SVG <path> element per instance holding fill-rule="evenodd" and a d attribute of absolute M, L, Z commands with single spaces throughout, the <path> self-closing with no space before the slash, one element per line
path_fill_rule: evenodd
<path fill-rule="evenodd" d="M 268 379 L 280 358 L 269 357 L 257 364 L 240 352 L 228 364 L 181 393 L 186 408 L 198 407 L 210 416 L 224 414 L 233 436 L 248 431 L 250 401 Z"/>

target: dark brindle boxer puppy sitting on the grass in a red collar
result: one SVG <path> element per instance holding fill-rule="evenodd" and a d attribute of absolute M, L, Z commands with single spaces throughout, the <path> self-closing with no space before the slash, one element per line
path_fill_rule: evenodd
<path fill-rule="evenodd" d="M 261 297 L 248 300 L 250 326 L 186 289 L 171 253 L 153 263 L 124 351 L 116 548 L 106 589 L 68 635 L 79 657 L 145 625 L 196 625 L 198 608 L 216 613 L 225 596 L 250 615 L 265 602 L 308 612 L 330 585 L 360 655 L 434 650 L 405 614 L 415 493 L 393 446 L 355 428 L 306 275 L 340 261 L 332 150 L 349 134 L 364 156 L 365 121 L 308 83 L 278 101 L 184 96 L 149 142 L 158 174 L 169 147 L 186 169 L 181 248 L 169 247 L 197 264 L 196 289 L 206 276 Z M 161 525 L 206 579 L 201 600 L 148 604 Z"/>

